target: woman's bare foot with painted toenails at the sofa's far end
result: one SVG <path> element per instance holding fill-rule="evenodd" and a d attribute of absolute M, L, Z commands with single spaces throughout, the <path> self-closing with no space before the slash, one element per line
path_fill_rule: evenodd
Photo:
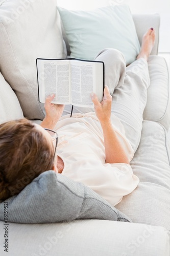
<path fill-rule="evenodd" d="M 148 57 L 150 56 L 151 51 L 154 47 L 154 43 L 155 43 L 155 30 L 153 28 L 150 28 L 143 35 L 141 50 L 137 55 L 136 59 L 144 58 L 145 60 L 148 60 Z"/>

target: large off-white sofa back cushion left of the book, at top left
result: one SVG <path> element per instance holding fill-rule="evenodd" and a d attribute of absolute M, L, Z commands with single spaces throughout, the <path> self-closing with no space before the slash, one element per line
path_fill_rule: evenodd
<path fill-rule="evenodd" d="M 0 3 L 0 70 L 15 91 L 24 115 L 43 119 L 38 102 L 36 58 L 66 56 L 56 0 Z"/>

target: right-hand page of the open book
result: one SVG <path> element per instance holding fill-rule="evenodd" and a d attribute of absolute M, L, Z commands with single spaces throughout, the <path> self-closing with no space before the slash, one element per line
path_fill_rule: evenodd
<path fill-rule="evenodd" d="M 90 107 L 90 93 L 103 98 L 103 64 L 92 61 L 71 60 L 71 104 Z M 98 75 L 96 74 L 98 72 Z M 96 84 L 98 83 L 98 84 Z"/>

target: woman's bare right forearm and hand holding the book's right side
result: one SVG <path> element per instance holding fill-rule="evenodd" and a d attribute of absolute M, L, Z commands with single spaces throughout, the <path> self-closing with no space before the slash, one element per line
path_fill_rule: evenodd
<path fill-rule="evenodd" d="M 112 96 L 109 93 L 108 87 L 105 86 L 104 97 L 101 103 L 94 93 L 91 94 L 91 99 L 94 103 L 95 114 L 99 118 L 103 129 L 106 163 L 129 164 L 125 150 L 119 142 L 111 123 Z"/>

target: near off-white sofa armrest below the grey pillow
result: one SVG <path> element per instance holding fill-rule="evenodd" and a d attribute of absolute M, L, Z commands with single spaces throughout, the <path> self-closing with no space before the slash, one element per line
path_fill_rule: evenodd
<path fill-rule="evenodd" d="M 2 244 L 3 224 L 0 222 Z M 25 256 L 169 256 L 170 253 L 168 231 L 163 227 L 105 220 L 8 224 L 12 256 L 23 255 L 23 251 Z M 4 255 L 3 245 L 0 254 Z"/>

